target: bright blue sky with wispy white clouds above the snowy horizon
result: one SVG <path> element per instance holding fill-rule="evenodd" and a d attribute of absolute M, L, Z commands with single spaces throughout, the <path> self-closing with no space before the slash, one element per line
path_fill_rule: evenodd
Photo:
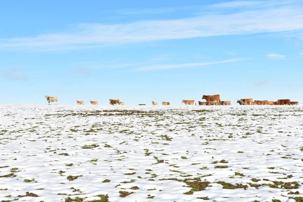
<path fill-rule="evenodd" d="M 0 103 L 303 102 L 302 1 L 5 1 Z"/>

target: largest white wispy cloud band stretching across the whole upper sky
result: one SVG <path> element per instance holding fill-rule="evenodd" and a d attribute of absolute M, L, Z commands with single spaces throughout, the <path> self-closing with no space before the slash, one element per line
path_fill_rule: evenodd
<path fill-rule="evenodd" d="M 259 4 L 259 1 L 231 2 L 230 4 L 254 5 Z M 221 7 L 224 5 L 221 4 Z M 267 9 L 261 4 L 248 10 L 219 12 L 216 15 L 207 14 L 175 20 L 136 21 L 111 25 L 79 24 L 73 31 L 0 39 L 0 49 L 56 51 L 168 39 L 291 32 L 303 30 L 302 20 L 303 8 L 300 4 L 286 6 L 278 4 Z"/>

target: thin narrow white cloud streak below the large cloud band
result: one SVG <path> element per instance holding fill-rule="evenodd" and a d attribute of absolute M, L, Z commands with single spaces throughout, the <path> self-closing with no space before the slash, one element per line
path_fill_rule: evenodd
<path fill-rule="evenodd" d="M 169 64 L 169 65 L 152 65 L 147 67 L 142 67 L 138 69 L 134 69 L 134 71 L 150 71 L 150 70 L 166 70 L 166 69 L 176 69 L 176 68 L 192 68 L 192 67 L 203 67 L 203 66 L 211 66 L 211 65 L 219 65 L 224 63 L 233 63 L 238 61 L 246 60 L 244 58 L 240 59 L 230 59 L 216 62 L 207 62 L 207 63 L 186 63 L 186 64 Z"/>

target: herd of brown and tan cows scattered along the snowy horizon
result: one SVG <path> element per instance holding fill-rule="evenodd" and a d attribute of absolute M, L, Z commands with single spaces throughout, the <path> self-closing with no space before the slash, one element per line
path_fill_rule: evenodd
<path fill-rule="evenodd" d="M 58 104 L 58 97 L 51 97 L 48 95 L 45 95 L 46 100 L 48 104 L 51 102 L 56 102 Z M 199 105 L 231 105 L 230 101 L 221 101 L 220 95 L 203 95 L 202 99 L 205 99 L 206 102 L 200 102 L 198 101 Z M 98 105 L 98 101 L 89 101 L 91 105 Z M 76 100 L 76 103 L 78 105 L 84 105 L 84 101 Z M 158 105 L 157 102 L 152 101 L 153 105 Z M 195 100 L 182 100 L 182 103 L 185 105 L 196 105 Z M 268 100 L 255 100 L 252 101 L 252 98 L 247 99 L 239 99 L 237 100 L 237 103 L 240 105 L 299 105 L 298 102 L 290 102 L 290 99 L 278 99 L 277 102 L 274 101 L 268 101 Z M 110 99 L 110 105 L 124 105 L 124 102 L 120 101 L 119 99 Z M 139 105 L 145 105 L 145 104 L 139 104 Z M 162 105 L 170 105 L 170 102 L 162 102 Z"/>

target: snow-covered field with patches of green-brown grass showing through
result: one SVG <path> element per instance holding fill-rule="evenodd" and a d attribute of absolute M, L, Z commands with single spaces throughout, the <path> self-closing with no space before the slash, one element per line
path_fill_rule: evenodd
<path fill-rule="evenodd" d="M 302 106 L 0 105 L 0 201 L 303 201 Z"/>

